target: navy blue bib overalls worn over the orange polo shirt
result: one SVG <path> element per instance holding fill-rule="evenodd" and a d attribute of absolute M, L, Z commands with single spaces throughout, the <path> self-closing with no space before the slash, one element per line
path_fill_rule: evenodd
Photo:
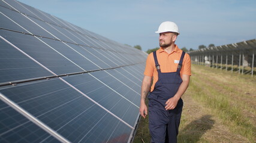
<path fill-rule="evenodd" d="M 158 81 L 148 95 L 149 99 L 149 130 L 151 142 L 172 143 L 177 142 L 177 135 L 182 113 L 183 101 L 180 100 L 173 110 L 165 110 L 165 102 L 173 97 L 179 89 L 182 79 L 180 69 L 185 52 L 182 52 L 176 72 L 161 73 L 156 52 L 153 52 L 156 70 L 158 71 Z"/>

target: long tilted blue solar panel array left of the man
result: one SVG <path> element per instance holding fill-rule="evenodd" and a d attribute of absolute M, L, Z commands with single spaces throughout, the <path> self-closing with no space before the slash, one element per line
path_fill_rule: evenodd
<path fill-rule="evenodd" d="M 144 52 L 14 0 L 0 20 L 0 142 L 131 141 Z"/>

